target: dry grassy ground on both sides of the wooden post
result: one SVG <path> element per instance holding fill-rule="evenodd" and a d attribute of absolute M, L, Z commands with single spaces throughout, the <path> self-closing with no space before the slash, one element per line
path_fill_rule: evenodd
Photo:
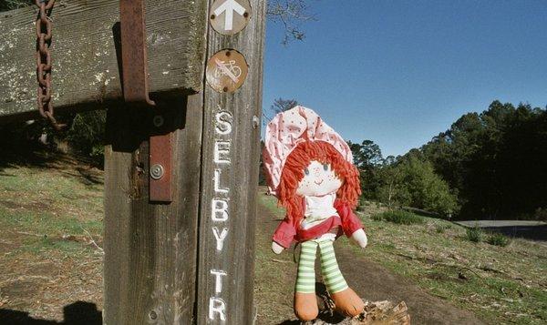
<path fill-rule="evenodd" d="M 259 198 L 283 216 L 274 198 Z M 369 206 L 361 213 L 370 259 L 490 323 L 547 320 L 544 246 L 526 240 L 506 248 L 475 244 L 447 221 L 398 226 L 372 220 L 377 211 Z M 43 168 L 1 168 L 0 308 L 60 320 L 59 309 L 76 300 L 100 306 L 102 255 L 91 239 L 101 245 L 102 216 L 96 170 L 70 159 Z M 294 271 L 292 255 L 272 259 L 271 234 L 258 231 L 256 304 L 265 319 L 283 320 L 292 315 L 293 277 L 286 280 L 278 270 Z"/>

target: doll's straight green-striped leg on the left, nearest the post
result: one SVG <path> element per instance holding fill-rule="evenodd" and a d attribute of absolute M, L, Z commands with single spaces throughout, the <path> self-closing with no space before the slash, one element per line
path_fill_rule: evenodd
<path fill-rule="evenodd" d="M 317 243 L 308 240 L 302 243 L 298 274 L 294 289 L 294 314 L 300 320 L 315 320 L 319 310 L 315 298 L 315 254 Z"/>

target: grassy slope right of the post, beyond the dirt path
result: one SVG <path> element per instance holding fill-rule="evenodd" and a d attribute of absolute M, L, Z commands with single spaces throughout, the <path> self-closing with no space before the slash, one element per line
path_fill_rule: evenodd
<path fill-rule="evenodd" d="M 260 198 L 283 216 L 274 198 Z M 359 213 L 366 224 L 369 246 L 365 252 L 355 248 L 356 254 L 366 254 L 489 323 L 547 321 L 545 246 L 522 239 L 505 248 L 471 243 L 465 239 L 464 228 L 445 220 L 425 218 L 423 224 L 402 226 L 370 218 L 377 212 L 378 208 L 368 206 Z M 263 277 L 275 266 L 268 265 L 268 259 L 262 258 L 265 252 L 257 250 L 257 277 Z M 265 294 L 259 298 L 261 295 Z"/>

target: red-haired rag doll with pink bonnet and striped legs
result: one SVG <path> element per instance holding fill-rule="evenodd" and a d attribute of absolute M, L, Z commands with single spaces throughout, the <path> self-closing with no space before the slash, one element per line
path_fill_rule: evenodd
<path fill-rule="evenodd" d="M 263 164 L 269 187 L 286 208 L 286 217 L 274 232 L 272 249 L 280 254 L 293 242 L 301 245 L 294 289 L 294 314 L 314 320 L 315 258 L 335 309 L 356 316 L 363 301 L 347 285 L 335 258 L 333 242 L 339 236 L 366 247 L 366 234 L 352 208 L 360 195 L 359 173 L 346 141 L 313 110 L 294 107 L 268 124 Z"/>

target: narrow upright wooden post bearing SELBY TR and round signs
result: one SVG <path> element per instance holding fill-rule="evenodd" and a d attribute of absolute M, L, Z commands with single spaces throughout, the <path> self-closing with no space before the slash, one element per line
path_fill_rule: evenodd
<path fill-rule="evenodd" d="M 254 317 L 253 229 L 260 157 L 265 1 L 252 0 L 250 7 L 247 0 L 235 2 L 244 10 L 234 8 L 240 9 L 233 13 L 239 19 L 234 18 L 232 28 L 225 28 L 223 15 L 232 14 L 230 7 L 222 5 L 230 3 L 210 2 L 209 19 L 216 28 L 209 29 L 207 42 L 210 86 L 205 87 L 203 119 L 198 324 L 249 324 Z M 230 89 L 239 82 L 217 83 L 212 76 L 222 68 L 217 66 L 219 59 L 242 67 L 241 76 L 239 69 L 232 68 L 234 76 L 243 78 L 239 80 L 243 84 L 240 89 Z M 246 80 L 244 60 L 249 65 Z M 224 79 L 227 77 L 233 76 Z"/>

